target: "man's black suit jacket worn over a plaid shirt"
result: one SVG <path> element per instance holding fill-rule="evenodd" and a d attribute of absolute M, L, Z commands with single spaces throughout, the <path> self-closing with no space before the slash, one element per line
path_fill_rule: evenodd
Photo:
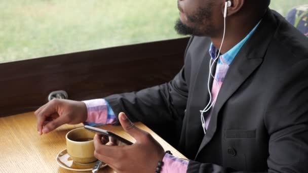
<path fill-rule="evenodd" d="M 170 124 L 187 172 L 308 172 L 307 38 L 268 10 L 230 64 L 204 136 L 210 42 L 191 37 L 169 83 L 107 97 L 114 112 Z"/>

